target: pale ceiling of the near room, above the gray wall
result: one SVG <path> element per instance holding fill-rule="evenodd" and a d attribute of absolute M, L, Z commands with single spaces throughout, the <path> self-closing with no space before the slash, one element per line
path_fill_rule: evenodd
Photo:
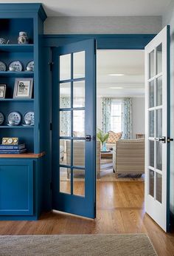
<path fill-rule="evenodd" d="M 171 0 L 41 0 L 47 16 L 161 16 Z M 172 0 L 173 1 L 173 0 Z M 0 0 L 38 3 L 38 0 Z"/>

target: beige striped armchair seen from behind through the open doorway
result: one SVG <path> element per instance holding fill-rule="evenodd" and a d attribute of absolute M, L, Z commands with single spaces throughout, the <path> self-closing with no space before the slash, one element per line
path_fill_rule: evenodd
<path fill-rule="evenodd" d="M 119 140 L 113 150 L 113 168 L 118 174 L 145 173 L 145 140 Z"/>

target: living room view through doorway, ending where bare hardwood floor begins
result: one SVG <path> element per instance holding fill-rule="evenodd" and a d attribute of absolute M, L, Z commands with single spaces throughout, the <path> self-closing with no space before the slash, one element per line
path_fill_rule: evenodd
<path fill-rule="evenodd" d="M 97 50 L 97 181 L 145 181 L 145 50 Z"/>

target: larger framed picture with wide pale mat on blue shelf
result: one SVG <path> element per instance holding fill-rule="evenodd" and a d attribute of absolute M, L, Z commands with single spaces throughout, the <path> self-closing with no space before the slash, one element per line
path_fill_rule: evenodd
<path fill-rule="evenodd" d="M 15 78 L 13 98 L 32 98 L 33 78 Z"/>

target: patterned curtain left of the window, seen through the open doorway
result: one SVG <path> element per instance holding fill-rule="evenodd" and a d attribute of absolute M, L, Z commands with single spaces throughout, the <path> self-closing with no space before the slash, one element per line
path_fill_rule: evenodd
<path fill-rule="evenodd" d="M 102 98 L 102 131 L 111 129 L 111 98 Z"/>

